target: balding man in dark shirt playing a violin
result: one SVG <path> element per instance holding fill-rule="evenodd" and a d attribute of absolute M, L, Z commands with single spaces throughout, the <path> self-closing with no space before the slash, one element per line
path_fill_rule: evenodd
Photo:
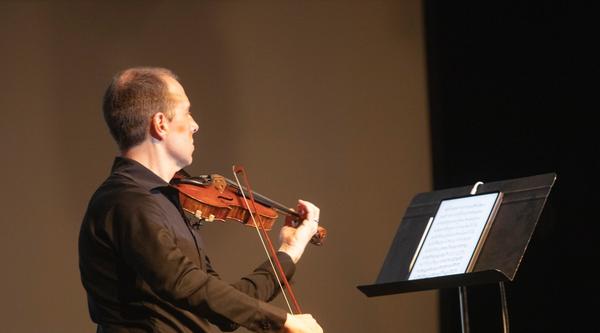
<path fill-rule="evenodd" d="M 182 214 L 173 175 L 192 163 L 198 124 L 173 73 L 131 68 L 117 74 L 103 102 L 120 149 L 81 225 L 79 266 L 98 332 L 322 332 L 311 315 L 267 301 L 277 283 L 265 262 L 234 284 L 219 279 L 202 240 Z M 283 227 L 277 253 L 291 278 L 319 209 L 299 201 L 306 220 Z"/>

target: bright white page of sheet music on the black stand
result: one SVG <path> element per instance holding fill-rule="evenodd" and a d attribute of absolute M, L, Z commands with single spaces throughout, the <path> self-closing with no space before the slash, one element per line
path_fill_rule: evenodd
<path fill-rule="evenodd" d="M 465 273 L 499 193 L 444 200 L 417 249 L 409 280 Z"/>

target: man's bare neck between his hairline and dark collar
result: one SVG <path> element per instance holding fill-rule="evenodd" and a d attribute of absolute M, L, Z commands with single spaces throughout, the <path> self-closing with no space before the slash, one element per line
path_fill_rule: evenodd
<path fill-rule="evenodd" d="M 159 147 L 153 146 L 150 142 L 142 142 L 135 147 L 122 151 L 121 156 L 137 161 L 167 183 L 171 181 L 175 172 L 181 169 L 166 158 Z"/>

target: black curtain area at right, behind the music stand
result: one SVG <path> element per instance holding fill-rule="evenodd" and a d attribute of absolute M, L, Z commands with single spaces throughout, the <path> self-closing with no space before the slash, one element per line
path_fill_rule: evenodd
<path fill-rule="evenodd" d="M 435 189 L 558 174 L 507 284 L 511 332 L 597 330 L 597 19 L 543 1 L 424 5 Z M 498 286 L 468 294 L 471 331 L 501 332 Z M 442 332 L 460 331 L 457 290 L 440 313 Z"/>

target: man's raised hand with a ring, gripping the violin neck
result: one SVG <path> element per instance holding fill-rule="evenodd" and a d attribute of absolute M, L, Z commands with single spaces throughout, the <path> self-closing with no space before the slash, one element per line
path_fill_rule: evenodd
<path fill-rule="evenodd" d="M 294 263 L 300 260 L 306 244 L 317 232 L 320 214 L 319 207 L 304 200 L 298 200 L 297 209 L 300 216 L 305 217 L 302 224 L 298 228 L 284 226 L 279 233 L 279 239 L 281 240 L 279 251 L 287 253 Z"/>

